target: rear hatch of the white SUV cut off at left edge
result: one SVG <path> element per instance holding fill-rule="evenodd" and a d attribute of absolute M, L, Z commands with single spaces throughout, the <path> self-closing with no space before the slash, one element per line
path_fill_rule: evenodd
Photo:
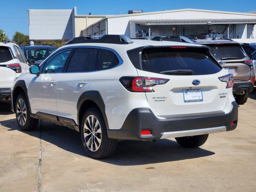
<path fill-rule="evenodd" d="M 16 78 L 16 72 L 12 69 L 12 64 L 17 62 L 17 59 L 12 58 L 8 47 L 0 46 L 0 87 L 12 86 Z"/>

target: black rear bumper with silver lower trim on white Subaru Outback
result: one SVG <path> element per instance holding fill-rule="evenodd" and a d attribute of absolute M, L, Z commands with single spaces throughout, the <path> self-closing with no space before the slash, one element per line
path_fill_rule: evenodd
<path fill-rule="evenodd" d="M 162 138 L 193 136 L 234 130 L 237 126 L 238 105 L 232 102 L 229 113 L 158 119 L 148 108 L 132 110 L 121 129 L 107 130 L 108 137 L 122 140 L 155 140 Z M 231 126 L 231 122 L 235 122 Z M 150 130 L 150 135 L 141 135 L 141 130 Z"/>

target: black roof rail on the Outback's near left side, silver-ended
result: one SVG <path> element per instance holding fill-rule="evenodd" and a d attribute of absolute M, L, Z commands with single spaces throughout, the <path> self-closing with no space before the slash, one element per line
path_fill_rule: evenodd
<path fill-rule="evenodd" d="M 104 35 L 99 39 L 94 39 L 93 36 L 75 37 L 70 39 L 66 45 L 76 43 L 111 43 L 111 44 L 131 44 L 132 40 L 126 35 Z"/>

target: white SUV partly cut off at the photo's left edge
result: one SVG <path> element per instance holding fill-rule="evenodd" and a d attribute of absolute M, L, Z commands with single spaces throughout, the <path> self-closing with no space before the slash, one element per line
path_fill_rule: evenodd
<path fill-rule="evenodd" d="M 10 102 L 10 90 L 14 81 L 29 72 L 29 65 L 19 46 L 0 42 L 0 102 Z"/>

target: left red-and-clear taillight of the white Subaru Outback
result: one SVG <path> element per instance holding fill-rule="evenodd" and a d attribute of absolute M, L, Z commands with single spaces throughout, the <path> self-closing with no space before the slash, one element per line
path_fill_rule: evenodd
<path fill-rule="evenodd" d="M 153 86 L 165 84 L 169 79 L 154 77 L 121 77 L 122 85 L 131 92 L 154 92 Z"/>

